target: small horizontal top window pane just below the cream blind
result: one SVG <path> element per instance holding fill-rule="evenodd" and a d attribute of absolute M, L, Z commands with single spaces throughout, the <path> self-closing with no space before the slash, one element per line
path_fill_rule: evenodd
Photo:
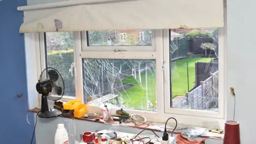
<path fill-rule="evenodd" d="M 151 45 L 151 30 L 88 31 L 89 46 Z"/>

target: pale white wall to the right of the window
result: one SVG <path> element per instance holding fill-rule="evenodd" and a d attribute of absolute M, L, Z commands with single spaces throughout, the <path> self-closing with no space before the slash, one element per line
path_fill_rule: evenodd
<path fill-rule="evenodd" d="M 256 129 L 255 6 L 255 0 L 227 1 L 227 89 L 235 89 L 235 119 L 240 123 L 241 143 L 247 144 L 255 143 Z M 228 103 L 233 100 L 229 97 Z M 228 116 L 230 110 L 228 107 Z"/>

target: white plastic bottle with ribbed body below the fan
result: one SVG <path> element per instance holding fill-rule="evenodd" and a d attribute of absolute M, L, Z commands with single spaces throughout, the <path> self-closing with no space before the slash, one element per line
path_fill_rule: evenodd
<path fill-rule="evenodd" d="M 68 132 L 63 124 L 58 124 L 54 144 L 68 144 Z"/>

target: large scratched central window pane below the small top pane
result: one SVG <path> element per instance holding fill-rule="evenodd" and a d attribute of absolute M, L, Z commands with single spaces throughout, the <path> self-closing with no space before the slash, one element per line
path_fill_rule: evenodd
<path fill-rule="evenodd" d="M 156 111 L 155 60 L 83 59 L 84 99 Z"/>

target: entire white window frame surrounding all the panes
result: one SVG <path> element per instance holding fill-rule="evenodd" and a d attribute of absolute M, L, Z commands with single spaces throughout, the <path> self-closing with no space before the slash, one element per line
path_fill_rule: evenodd
<path fill-rule="evenodd" d="M 224 48 L 223 28 L 219 29 L 219 47 Z M 84 101 L 83 94 L 83 58 L 99 59 L 155 59 L 156 60 L 156 91 L 157 112 L 135 109 L 125 109 L 127 113 L 137 113 L 145 116 L 150 122 L 165 122 L 168 117 L 175 117 L 179 124 L 202 126 L 203 122 L 218 122 L 220 128 L 224 127 L 224 90 L 226 80 L 225 49 L 219 49 L 219 112 L 179 109 L 170 107 L 170 66 L 169 64 L 169 30 L 152 30 L 151 46 L 87 46 L 86 31 L 73 32 L 74 38 L 74 62 L 75 62 L 75 89 L 76 97 L 63 97 L 62 101 Z M 39 34 L 39 53 L 41 54 L 41 69 L 45 68 L 44 35 Z M 116 51 L 117 50 L 117 51 Z M 41 72 L 41 71 L 39 71 Z M 39 97 L 41 98 L 41 97 Z M 101 113 L 99 106 L 88 105 L 90 113 Z M 119 108 L 112 108 L 115 113 Z"/>

